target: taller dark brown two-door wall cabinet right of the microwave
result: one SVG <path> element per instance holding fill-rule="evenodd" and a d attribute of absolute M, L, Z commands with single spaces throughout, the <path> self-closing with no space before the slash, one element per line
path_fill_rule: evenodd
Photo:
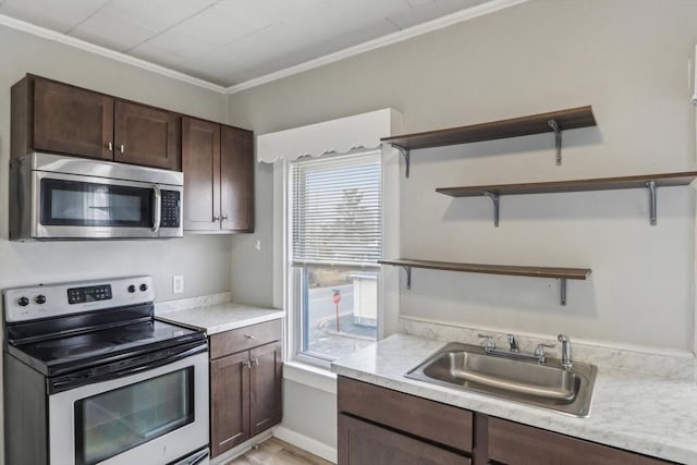
<path fill-rule="evenodd" d="M 184 230 L 254 231 L 254 135 L 183 117 Z"/>

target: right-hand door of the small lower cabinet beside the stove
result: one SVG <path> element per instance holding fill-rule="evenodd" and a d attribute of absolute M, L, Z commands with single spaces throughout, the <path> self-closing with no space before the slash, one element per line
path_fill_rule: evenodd
<path fill-rule="evenodd" d="M 252 436 L 281 421 L 281 343 L 273 342 L 249 351 Z"/>

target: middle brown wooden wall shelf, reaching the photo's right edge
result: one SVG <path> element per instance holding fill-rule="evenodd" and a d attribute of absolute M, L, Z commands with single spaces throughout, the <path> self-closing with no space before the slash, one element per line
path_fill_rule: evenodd
<path fill-rule="evenodd" d="M 598 178 L 572 181 L 551 181 L 523 184 L 491 184 L 462 187 L 439 187 L 436 192 L 451 197 L 477 197 L 489 194 L 553 194 L 564 192 L 610 191 L 621 188 L 647 187 L 647 183 L 656 182 L 656 187 L 688 185 L 697 179 L 697 171 L 678 173 L 641 174 L 637 176 Z M 489 194 L 487 194 L 489 193 Z"/>

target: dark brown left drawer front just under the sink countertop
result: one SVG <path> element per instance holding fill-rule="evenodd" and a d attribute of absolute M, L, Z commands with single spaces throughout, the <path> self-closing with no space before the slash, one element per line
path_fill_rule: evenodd
<path fill-rule="evenodd" d="M 350 413 L 464 452 L 472 452 L 472 412 L 339 377 L 339 413 Z"/>

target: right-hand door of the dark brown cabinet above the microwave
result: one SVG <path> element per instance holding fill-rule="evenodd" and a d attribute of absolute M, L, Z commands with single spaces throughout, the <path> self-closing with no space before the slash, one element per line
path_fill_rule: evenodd
<path fill-rule="evenodd" d="M 181 170 L 179 140 L 179 114 L 121 100 L 114 103 L 115 161 Z"/>

